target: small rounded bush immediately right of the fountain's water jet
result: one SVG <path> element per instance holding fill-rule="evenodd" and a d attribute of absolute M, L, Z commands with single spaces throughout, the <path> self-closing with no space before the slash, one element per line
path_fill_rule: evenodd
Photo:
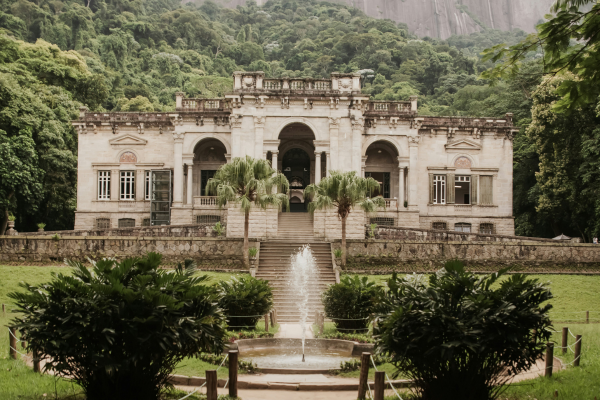
<path fill-rule="evenodd" d="M 323 292 L 325 315 L 343 333 L 366 332 L 382 293 L 383 289 L 366 276 L 344 275 L 340 283 L 329 286 Z"/>

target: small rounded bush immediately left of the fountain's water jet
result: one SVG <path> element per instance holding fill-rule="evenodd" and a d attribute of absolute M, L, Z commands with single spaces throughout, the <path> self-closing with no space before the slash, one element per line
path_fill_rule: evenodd
<path fill-rule="evenodd" d="M 234 331 L 254 330 L 256 322 L 273 307 L 273 292 L 268 281 L 247 275 L 221 281 L 217 288 L 221 296 L 219 306 Z"/>

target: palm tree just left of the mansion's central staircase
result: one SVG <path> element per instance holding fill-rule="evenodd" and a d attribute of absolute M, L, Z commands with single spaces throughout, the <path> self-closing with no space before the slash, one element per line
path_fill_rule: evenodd
<path fill-rule="evenodd" d="M 231 163 L 223 165 L 207 186 L 210 194 L 217 195 L 219 208 L 228 202 L 239 204 L 244 212 L 244 264 L 250 266 L 248 256 L 248 227 L 252 205 L 260 208 L 268 206 L 288 207 L 289 200 L 285 194 L 289 183 L 285 175 L 271 168 L 268 160 L 236 157 Z M 274 191 L 277 188 L 278 191 Z M 273 193 L 275 192 L 275 193 Z"/>

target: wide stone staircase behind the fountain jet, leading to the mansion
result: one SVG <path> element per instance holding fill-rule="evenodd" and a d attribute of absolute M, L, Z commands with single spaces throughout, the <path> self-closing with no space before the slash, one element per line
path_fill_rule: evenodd
<path fill-rule="evenodd" d="M 260 245 L 256 277 L 269 281 L 273 288 L 274 307 L 280 323 L 300 322 L 299 296 L 291 287 L 290 258 L 303 245 L 308 244 L 317 263 L 318 272 L 309 279 L 308 321 L 312 322 L 315 311 L 323 311 L 321 293 L 335 283 L 331 262 L 331 245 L 318 242 L 313 236 L 312 216 L 307 213 L 279 214 L 278 237 Z"/>

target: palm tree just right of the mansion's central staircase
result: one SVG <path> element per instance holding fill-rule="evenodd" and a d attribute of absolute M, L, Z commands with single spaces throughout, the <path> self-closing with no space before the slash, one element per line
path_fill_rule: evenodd
<path fill-rule="evenodd" d="M 381 196 L 369 197 L 374 190 L 379 189 L 379 182 L 373 178 L 362 178 L 355 171 L 330 171 L 329 174 L 318 185 L 308 185 L 304 189 L 304 197 L 313 197 L 308 205 L 311 213 L 330 207 L 337 209 L 338 218 L 342 220 L 342 266 L 345 267 L 348 215 L 356 207 L 365 212 L 373 212 L 377 207 L 385 207 L 385 200 Z"/>

